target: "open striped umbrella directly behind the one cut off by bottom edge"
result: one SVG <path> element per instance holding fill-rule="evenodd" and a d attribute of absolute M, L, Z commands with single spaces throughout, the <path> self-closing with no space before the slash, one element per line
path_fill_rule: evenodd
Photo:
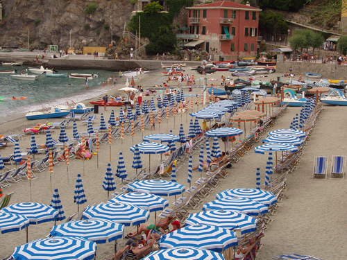
<path fill-rule="evenodd" d="M 221 253 L 234 246 L 237 246 L 235 232 L 213 225 L 188 225 L 160 239 L 162 249 L 196 247 Z"/>

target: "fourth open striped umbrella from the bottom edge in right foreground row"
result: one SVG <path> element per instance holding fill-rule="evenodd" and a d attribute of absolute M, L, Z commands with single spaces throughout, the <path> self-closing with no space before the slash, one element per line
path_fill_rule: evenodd
<path fill-rule="evenodd" d="M 226 197 L 203 205 L 203 210 L 224 209 L 241 212 L 248 216 L 260 216 L 269 212 L 268 207 L 249 198 Z"/>

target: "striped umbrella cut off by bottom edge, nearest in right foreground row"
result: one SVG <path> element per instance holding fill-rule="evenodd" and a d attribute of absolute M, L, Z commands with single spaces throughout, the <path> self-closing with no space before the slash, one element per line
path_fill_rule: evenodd
<path fill-rule="evenodd" d="M 199 248 L 169 248 L 152 252 L 142 260 L 225 260 L 223 254 Z"/>

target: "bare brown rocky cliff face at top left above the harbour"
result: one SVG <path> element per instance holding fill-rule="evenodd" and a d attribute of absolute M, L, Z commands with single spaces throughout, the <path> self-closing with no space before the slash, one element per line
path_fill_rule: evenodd
<path fill-rule="evenodd" d="M 0 46 L 27 48 L 28 32 L 31 49 L 56 44 L 61 49 L 71 45 L 105 46 L 121 35 L 124 24 L 134 9 L 129 0 L 2 0 Z M 88 13 L 90 4 L 96 10 Z"/>

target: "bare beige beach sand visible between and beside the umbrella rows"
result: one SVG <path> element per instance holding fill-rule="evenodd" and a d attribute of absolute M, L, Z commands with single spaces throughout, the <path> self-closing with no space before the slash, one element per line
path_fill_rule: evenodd
<path fill-rule="evenodd" d="M 196 71 L 186 71 L 185 73 L 196 75 L 196 81 L 201 75 L 196 74 Z M 207 76 L 209 85 L 219 84 L 223 73 L 217 72 Z M 225 73 L 224 73 L 225 74 Z M 269 75 L 264 80 L 276 79 L 280 76 L 278 73 Z M 150 86 L 161 84 L 164 80 L 159 71 L 151 71 L 141 76 L 136 84 Z M 198 84 L 198 83 L 196 83 Z M 175 85 L 175 84 L 174 84 Z M 118 84 L 115 89 L 122 87 Z M 111 89 L 109 94 L 114 95 L 115 89 Z M 185 94 L 199 94 L 201 89 L 194 89 L 194 92 Z M 159 94 L 159 92 L 157 92 Z M 146 97 L 151 98 L 151 96 Z M 198 110 L 195 105 L 194 110 Z M 111 108 L 106 111 L 103 108 L 102 112 L 105 119 L 108 120 Z M 289 107 L 287 112 L 276 120 L 275 125 L 269 130 L 278 128 L 289 128 L 291 119 L 299 112 L 296 107 Z M 260 251 L 259 259 L 269 260 L 277 254 L 285 254 L 298 252 L 301 254 L 312 254 L 316 257 L 321 257 L 325 260 L 340 260 L 347 255 L 347 245 L 344 241 L 347 240 L 346 230 L 346 206 L 347 206 L 347 188 L 346 179 L 336 180 L 315 180 L 312 179 L 313 159 L 316 155 L 347 155 L 346 154 L 346 127 L 347 121 L 345 107 L 328 107 L 324 106 L 321 116 L 319 117 L 316 127 L 312 132 L 310 141 L 307 142 L 307 147 L 303 153 L 301 162 L 293 173 L 288 177 L 288 187 L 285 191 L 285 199 L 280 202 L 278 211 L 273 216 L 273 222 L 268 225 L 264 239 L 262 239 L 263 247 Z M 119 115 L 119 108 L 115 109 L 116 116 Z M 173 130 L 174 134 L 178 135 L 179 124 L 183 123 L 185 133 L 188 132 L 190 116 L 183 114 L 176 117 L 171 116 L 169 121 L 164 120 L 162 124 L 156 125 L 155 130 L 145 130 L 144 135 L 153 132 L 169 132 Z M 57 120 L 56 120 L 57 121 Z M 34 125 L 39 121 L 30 122 L 26 119 L 17 119 L 3 123 L 0 126 L 0 132 L 19 133 L 24 127 Z M 99 125 L 99 115 L 94 123 L 94 127 Z M 78 130 L 85 132 L 87 125 L 78 123 Z M 53 138 L 58 139 L 59 130 L 53 132 Z M 67 135 L 72 138 L 72 124 L 67 128 Z M 44 144 L 45 136 L 36 136 L 37 144 Z M 118 154 L 120 151 L 124 153 L 126 168 L 129 177 L 135 175 L 135 171 L 131 168 L 133 153 L 129 147 L 142 141 L 142 133 L 139 131 L 135 137 L 126 136 L 123 140 L 115 139 L 112 143 L 112 169 L 115 172 L 117 166 Z M 22 148 L 28 148 L 30 136 L 24 137 L 21 141 Z M 2 156 L 12 153 L 12 147 L 0 151 Z M 106 164 L 109 162 L 108 145 L 102 145 L 99 153 L 99 168 L 96 166 L 96 158 L 82 162 L 74 159 L 69 165 L 69 175 L 67 175 L 67 166 L 65 162 L 61 162 L 54 167 L 53 188 L 58 188 L 60 198 L 65 210 L 66 216 L 71 216 L 77 211 L 77 206 L 74 204 L 74 182 L 77 173 L 83 174 L 83 184 L 87 196 L 87 204 L 107 201 L 107 193 L 102 188 L 103 178 L 105 176 Z M 149 157 L 142 156 L 144 166 L 148 167 Z M 198 155 L 194 154 L 194 166 L 198 162 Z M 151 157 L 151 165 L 156 166 L 160 163 L 160 156 Z M 228 177 L 206 198 L 206 202 L 213 200 L 215 194 L 224 189 L 230 188 L 253 188 L 255 187 L 255 168 L 261 167 L 264 173 L 266 165 L 266 155 L 255 154 L 253 149 L 249 151 L 242 159 L 233 164 Z M 330 166 L 330 163 L 329 163 Z M 84 169 L 84 171 L 83 171 Z M 33 201 L 49 204 L 52 196 L 50 189 L 49 171 L 36 173 L 37 178 L 32 181 L 32 196 Z M 200 173 L 194 172 L 194 180 L 200 177 Z M 169 180 L 169 178 L 167 178 Z M 180 166 L 178 169 L 178 182 L 187 184 L 187 163 Z M 119 179 L 117 181 L 117 191 L 122 186 Z M 15 192 L 11 198 L 11 204 L 16 202 L 29 201 L 29 185 L 28 181 L 13 183 L 11 187 L 4 189 L 4 193 Z M 173 198 L 169 198 L 172 202 Z M 199 210 L 199 209 L 198 209 Z M 196 211 L 198 211 L 196 210 Z M 150 223 L 153 223 L 153 215 L 151 214 Z M 44 223 L 40 225 L 31 225 L 29 229 L 29 241 L 40 239 L 51 230 L 53 223 Z M 126 233 L 131 228 L 126 228 Z M 0 236 L 0 258 L 9 256 L 15 246 L 25 243 L 25 231 L 12 232 L 1 234 Z M 110 259 L 113 252 L 113 243 L 98 245 L 97 259 Z M 257 258 L 258 259 L 258 258 Z"/>

